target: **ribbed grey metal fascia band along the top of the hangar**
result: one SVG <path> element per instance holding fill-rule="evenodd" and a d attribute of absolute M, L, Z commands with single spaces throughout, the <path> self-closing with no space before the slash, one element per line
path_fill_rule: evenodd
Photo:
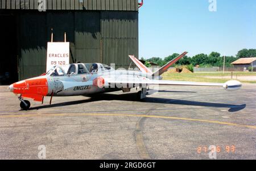
<path fill-rule="evenodd" d="M 0 9 L 38 10 L 38 0 L 0 0 Z M 46 0 L 46 10 L 138 11 L 138 0 Z"/>

